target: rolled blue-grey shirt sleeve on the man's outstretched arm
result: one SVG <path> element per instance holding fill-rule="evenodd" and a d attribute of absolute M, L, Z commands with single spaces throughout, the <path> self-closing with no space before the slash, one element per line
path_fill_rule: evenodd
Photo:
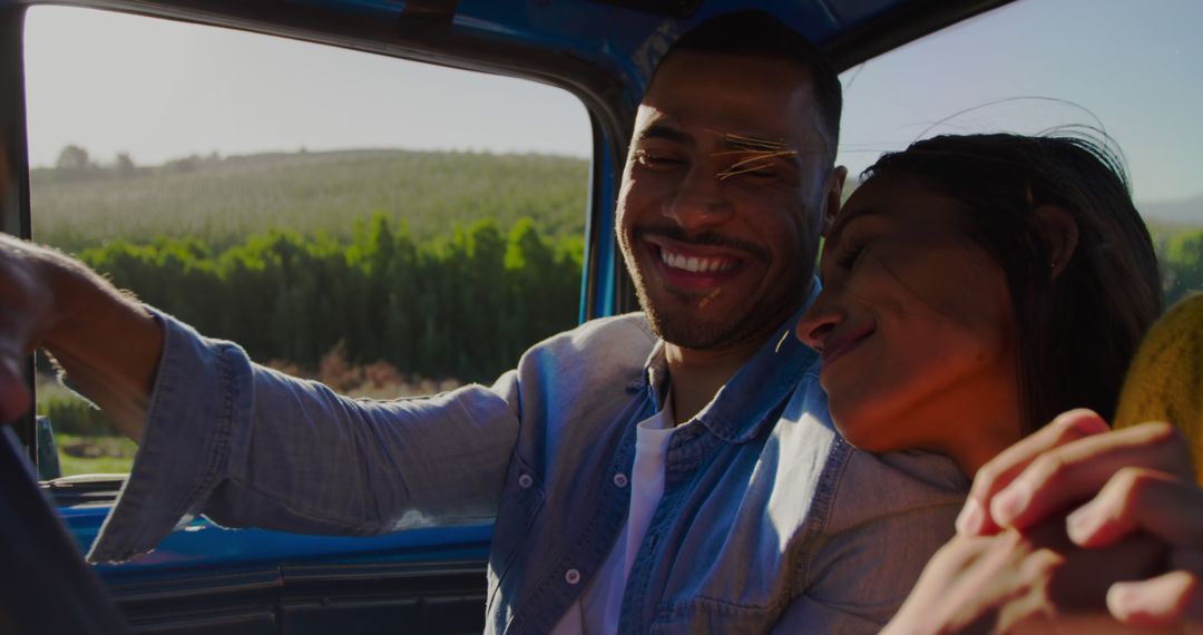
<path fill-rule="evenodd" d="M 518 428 L 512 373 L 493 390 L 350 399 L 156 318 L 166 339 L 146 432 L 90 562 L 144 553 L 200 512 L 342 535 L 497 512 Z"/>

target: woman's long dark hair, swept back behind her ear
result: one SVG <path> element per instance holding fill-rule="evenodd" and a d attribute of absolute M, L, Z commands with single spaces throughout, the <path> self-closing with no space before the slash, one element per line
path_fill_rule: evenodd
<path fill-rule="evenodd" d="M 1116 156 L 1078 137 L 941 136 L 882 156 L 864 177 L 885 172 L 959 200 L 970 238 L 1002 268 L 1024 432 L 1072 408 L 1110 420 L 1128 362 L 1161 314 L 1152 241 Z M 1056 277 L 1042 206 L 1060 207 L 1078 227 Z"/>

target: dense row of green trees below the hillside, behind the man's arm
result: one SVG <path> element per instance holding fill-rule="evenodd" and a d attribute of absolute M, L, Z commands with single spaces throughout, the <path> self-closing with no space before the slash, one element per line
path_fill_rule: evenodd
<path fill-rule="evenodd" d="M 583 243 L 523 218 L 420 242 L 385 214 L 350 241 L 272 230 L 217 250 L 198 238 L 123 241 L 78 254 L 117 286 L 243 345 L 315 368 L 342 348 L 423 378 L 491 381 L 579 315 Z"/>

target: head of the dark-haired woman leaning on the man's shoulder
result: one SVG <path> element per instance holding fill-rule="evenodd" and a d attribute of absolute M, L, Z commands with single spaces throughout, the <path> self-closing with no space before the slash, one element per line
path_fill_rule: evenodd
<path fill-rule="evenodd" d="M 1112 416 L 1161 311 L 1112 155 L 1081 138 L 946 136 L 866 176 L 798 325 L 846 439 L 943 452 L 973 475 L 1059 413 Z"/>

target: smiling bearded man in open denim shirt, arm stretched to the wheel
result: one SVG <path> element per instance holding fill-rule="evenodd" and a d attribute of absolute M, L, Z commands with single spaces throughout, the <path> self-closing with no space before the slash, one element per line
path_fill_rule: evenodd
<path fill-rule="evenodd" d="M 340 534 L 496 515 L 488 631 L 876 631 L 967 482 L 943 457 L 840 440 L 790 334 L 843 185 L 838 117 L 834 72 L 775 19 L 685 36 L 639 108 L 617 208 L 646 316 L 427 399 L 343 399 L 5 242 L 0 416 L 28 404 L 17 364 L 43 346 L 140 441 L 95 560 L 202 511 Z"/>

